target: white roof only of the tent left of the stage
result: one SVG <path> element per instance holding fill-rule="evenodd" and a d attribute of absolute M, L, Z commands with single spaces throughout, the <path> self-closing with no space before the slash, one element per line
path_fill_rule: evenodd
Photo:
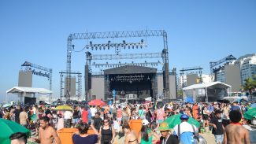
<path fill-rule="evenodd" d="M 6 91 L 6 94 L 20 94 L 20 93 L 39 93 L 39 94 L 52 94 L 51 90 L 47 90 L 45 88 L 35 88 L 35 87 L 13 87 Z"/>

